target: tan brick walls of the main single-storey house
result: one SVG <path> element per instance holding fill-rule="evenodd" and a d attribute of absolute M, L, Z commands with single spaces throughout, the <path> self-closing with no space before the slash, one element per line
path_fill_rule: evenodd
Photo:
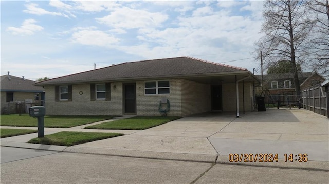
<path fill-rule="evenodd" d="M 168 116 L 186 116 L 211 110 L 210 85 L 184 79 L 170 79 L 170 94 L 145 95 L 144 81 L 136 81 L 136 114 L 161 115 L 162 98 L 170 101 Z M 115 86 L 115 88 L 114 88 Z M 90 100 L 90 84 L 72 85 L 72 101 L 55 101 L 54 86 L 46 87 L 47 115 L 122 115 L 122 83 L 111 83 L 111 100 Z M 236 111 L 235 83 L 222 84 L 223 111 Z M 245 83 L 245 111 L 252 110 L 252 84 Z M 83 94 L 79 94 L 82 91 Z M 243 111 L 242 83 L 239 83 L 240 112 Z M 163 109 L 165 106 L 163 106 Z"/>

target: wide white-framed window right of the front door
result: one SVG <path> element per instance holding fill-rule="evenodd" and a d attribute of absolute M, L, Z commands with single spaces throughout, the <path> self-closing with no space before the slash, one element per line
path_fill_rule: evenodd
<path fill-rule="evenodd" d="M 170 94 L 169 80 L 145 82 L 144 87 L 145 87 L 145 95 Z"/>

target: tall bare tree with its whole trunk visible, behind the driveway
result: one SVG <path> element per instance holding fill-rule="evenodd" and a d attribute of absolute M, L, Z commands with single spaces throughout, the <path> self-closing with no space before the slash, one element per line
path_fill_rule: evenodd
<path fill-rule="evenodd" d="M 315 25 L 308 19 L 309 13 L 303 1 L 267 0 L 261 30 L 264 36 L 257 43 L 257 51 L 264 54 L 264 64 L 269 66 L 280 60 L 291 62 L 297 94 L 300 94 L 300 83 L 296 66 L 308 59 L 307 37 Z"/>

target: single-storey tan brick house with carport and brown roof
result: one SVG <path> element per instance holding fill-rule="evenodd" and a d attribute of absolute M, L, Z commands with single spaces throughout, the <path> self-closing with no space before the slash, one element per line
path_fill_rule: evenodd
<path fill-rule="evenodd" d="M 48 115 L 187 116 L 252 111 L 250 71 L 192 57 L 129 62 L 36 83 L 46 89 Z M 237 101 L 236 98 L 239 97 Z M 160 103 L 162 101 L 162 104 Z"/>

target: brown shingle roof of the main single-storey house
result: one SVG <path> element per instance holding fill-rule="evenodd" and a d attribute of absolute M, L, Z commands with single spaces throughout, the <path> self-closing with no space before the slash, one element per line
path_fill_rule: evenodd
<path fill-rule="evenodd" d="M 207 62 L 192 57 L 127 62 L 96 70 L 90 70 L 59 78 L 49 79 L 37 85 L 84 83 L 90 81 L 130 80 L 136 78 L 179 77 L 187 75 L 247 71 L 245 68 Z"/>

